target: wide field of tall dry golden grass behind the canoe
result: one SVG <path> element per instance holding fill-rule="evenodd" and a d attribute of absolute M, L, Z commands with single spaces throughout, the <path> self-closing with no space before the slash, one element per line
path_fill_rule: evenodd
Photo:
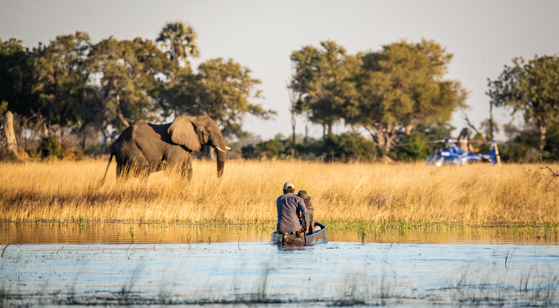
<path fill-rule="evenodd" d="M 194 161 L 184 184 L 174 172 L 98 183 L 106 161 L 0 164 L 3 221 L 267 221 L 291 181 L 312 196 L 318 220 L 409 223 L 559 222 L 559 178 L 537 165 L 325 164 Z M 550 165 L 559 170 L 559 165 Z"/>

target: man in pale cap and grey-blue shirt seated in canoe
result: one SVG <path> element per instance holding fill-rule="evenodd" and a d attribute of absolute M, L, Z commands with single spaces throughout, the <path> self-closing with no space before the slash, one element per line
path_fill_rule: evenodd
<path fill-rule="evenodd" d="M 277 232 L 301 236 L 309 231 L 309 211 L 303 199 L 295 194 L 295 185 L 291 182 L 283 184 L 283 195 L 277 198 L 278 211 Z M 301 226 L 300 218 L 305 217 L 305 226 Z"/>

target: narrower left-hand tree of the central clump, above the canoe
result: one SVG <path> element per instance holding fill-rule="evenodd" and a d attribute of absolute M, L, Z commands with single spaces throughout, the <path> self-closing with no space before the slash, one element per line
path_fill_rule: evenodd
<path fill-rule="evenodd" d="M 290 87 L 301 94 L 298 112 L 323 125 L 326 136 L 343 119 L 348 101 L 356 97 L 352 76 L 360 63 L 358 57 L 347 55 L 334 41 L 322 41 L 320 45 L 323 49 L 305 46 L 291 54 L 296 73 Z"/>

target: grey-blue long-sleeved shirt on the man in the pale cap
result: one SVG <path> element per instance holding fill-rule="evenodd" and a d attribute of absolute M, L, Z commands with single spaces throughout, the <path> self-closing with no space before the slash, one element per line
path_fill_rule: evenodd
<path fill-rule="evenodd" d="M 281 195 L 276 200 L 278 210 L 277 231 L 280 233 L 297 231 L 302 228 L 299 218 L 301 212 L 305 215 L 305 223 L 309 226 L 309 212 L 301 197 L 293 193 Z"/>

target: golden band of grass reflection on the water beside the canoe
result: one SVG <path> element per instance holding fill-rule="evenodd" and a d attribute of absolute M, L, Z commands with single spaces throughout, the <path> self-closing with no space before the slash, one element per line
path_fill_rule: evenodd
<path fill-rule="evenodd" d="M 197 244 L 268 242 L 273 224 L 197 226 L 180 223 L 3 223 L 1 244 Z M 328 240 L 399 244 L 557 244 L 557 228 L 433 227 L 348 230 L 328 227 Z"/>

